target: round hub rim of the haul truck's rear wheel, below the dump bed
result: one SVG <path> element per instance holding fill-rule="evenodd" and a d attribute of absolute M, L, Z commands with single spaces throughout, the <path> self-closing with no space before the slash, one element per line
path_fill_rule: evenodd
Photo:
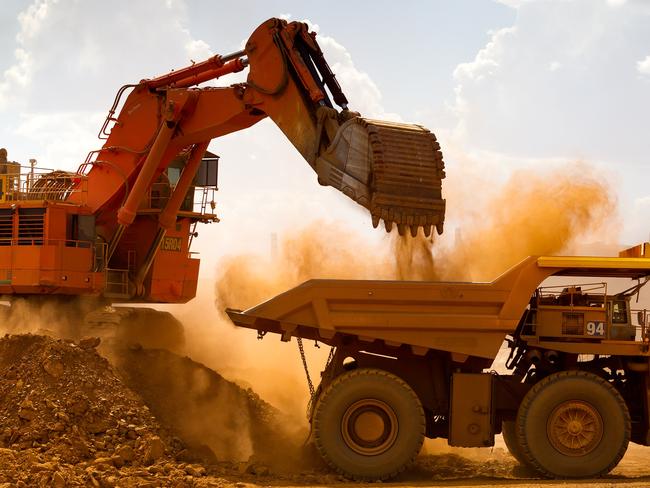
<path fill-rule="evenodd" d="M 390 449 L 397 439 L 397 430 L 397 416 L 393 409 L 372 398 L 350 405 L 341 420 L 345 444 L 364 456 L 376 456 Z"/>

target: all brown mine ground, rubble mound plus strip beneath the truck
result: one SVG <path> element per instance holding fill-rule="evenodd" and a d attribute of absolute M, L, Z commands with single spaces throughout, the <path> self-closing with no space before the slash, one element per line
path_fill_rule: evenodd
<path fill-rule="evenodd" d="M 650 448 L 630 445 L 604 478 L 566 482 L 536 479 L 500 439 L 491 449 L 430 442 L 395 480 L 353 483 L 305 449 L 287 420 L 252 390 L 168 351 L 0 339 L 0 488 L 650 486 Z M 251 455 L 232 461 L 242 452 Z"/>

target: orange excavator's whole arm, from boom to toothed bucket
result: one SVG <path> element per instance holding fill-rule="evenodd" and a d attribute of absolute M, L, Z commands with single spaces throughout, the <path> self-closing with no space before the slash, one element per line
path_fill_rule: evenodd
<path fill-rule="evenodd" d="M 196 87 L 246 68 L 246 83 Z M 131 92 L 115 117 L 127 89 Z M 183 184 L 175 189 L 184 195 L 210 140 L 265 117 L 314 169 L 319 183 L 366 207 L 375 227 L 384 220 L 388 231 L 396 224 L 400 234 L 410 229 L 415 235 L 423 227 L 429 235 L 434 226 L 442 232 L 444 164 L 435 136 L 421 126 L 350 111 L 315 34 L 304 23 L 270 19 L 240 52 L 120 90 L 100 133 L 104 146 L 80 168 L 87 176 L 86 203 L 98 228 L 112 236 L 109 259 L 146 192 L 174 158 L 188 155 Z M 71 192 L 69 200 L 77 195 Z M 159 218 L 161 228 L 173 224 L 180 201 L 170 199 Z"/>

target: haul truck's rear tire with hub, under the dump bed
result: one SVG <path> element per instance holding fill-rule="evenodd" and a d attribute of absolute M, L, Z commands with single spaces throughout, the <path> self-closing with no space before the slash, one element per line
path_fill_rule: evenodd
<path fill-rule="evenodd" d="M 413 462 L 424 441 L 418 396 L 380 369 L 355 369 L 336 378 L 319 397 L 312 423 L 322 458 L 358 481 L 397 475 Z"/>

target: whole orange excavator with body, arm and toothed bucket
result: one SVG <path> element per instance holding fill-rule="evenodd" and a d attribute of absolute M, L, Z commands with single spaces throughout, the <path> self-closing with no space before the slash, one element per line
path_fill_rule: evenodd
<path fill-rule="evenodd" d="M 245 69 L 245 83 L 198 87 Z M 435 136 L 350 111 L 315 33 L 270 19 L 241 51 L 120 88 L 102 148 L 77 172 L 23 168 L 0 154 L 0 295 L 102 305 L 191 300 L 196 224 L 218 221 L 218 157 L 208 144 L 265 117 L 318 182 L 367 208 L 375 227 L 442 232 Z"/>

